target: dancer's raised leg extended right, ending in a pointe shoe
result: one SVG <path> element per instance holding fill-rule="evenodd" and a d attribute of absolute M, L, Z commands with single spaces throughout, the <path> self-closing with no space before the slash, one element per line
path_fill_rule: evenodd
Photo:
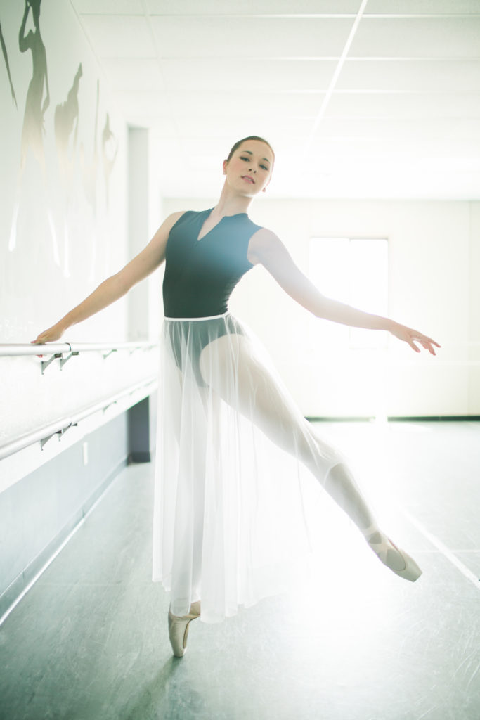
<path fill-rule="evenodd" d="M 232 368 L 232 362 L 235 362 L 235 368 Z M 311 470 L 366 537 L 381 562 L 397 575 L 417 580 L 420 568 L 381 533 L 347 465 L 334 449 L 314 434 L 281 381 L 256 358 L 248 338 L 223 336 L 212 341 L 202 351 L 200 369 L 205 382 L 223 400 L 250 418 L 271 441 L 297 456 Z M 235 377 L 234 383 L 232 377 Z"/>

